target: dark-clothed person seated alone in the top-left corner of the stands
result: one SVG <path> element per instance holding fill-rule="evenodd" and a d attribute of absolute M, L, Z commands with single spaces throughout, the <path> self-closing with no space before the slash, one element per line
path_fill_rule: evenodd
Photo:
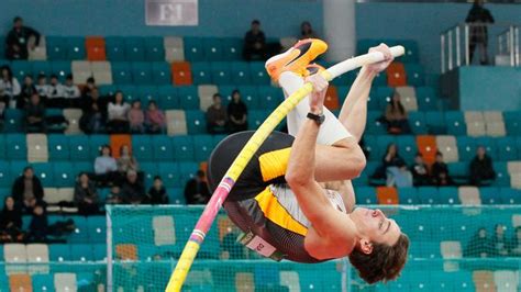
<path fill-rule="evenodd" d="M 29 26 L 23 26 L 22 18 L 15 16 L 13 29 L 9 32 L 5 43 L 8 59 L 27 59 L 29 49 L 34 49 L 40 43 L 40 33 Z"/>

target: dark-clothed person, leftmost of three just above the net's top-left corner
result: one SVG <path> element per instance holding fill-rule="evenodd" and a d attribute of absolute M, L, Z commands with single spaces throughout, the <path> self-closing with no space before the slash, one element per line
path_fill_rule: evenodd
<path fill-rule="evenodd" d="M 100 211 L 98 190 L 86 172 L 78 176 L 74 189 L 74 200 L 81 215 L 92 215 Z"/>

